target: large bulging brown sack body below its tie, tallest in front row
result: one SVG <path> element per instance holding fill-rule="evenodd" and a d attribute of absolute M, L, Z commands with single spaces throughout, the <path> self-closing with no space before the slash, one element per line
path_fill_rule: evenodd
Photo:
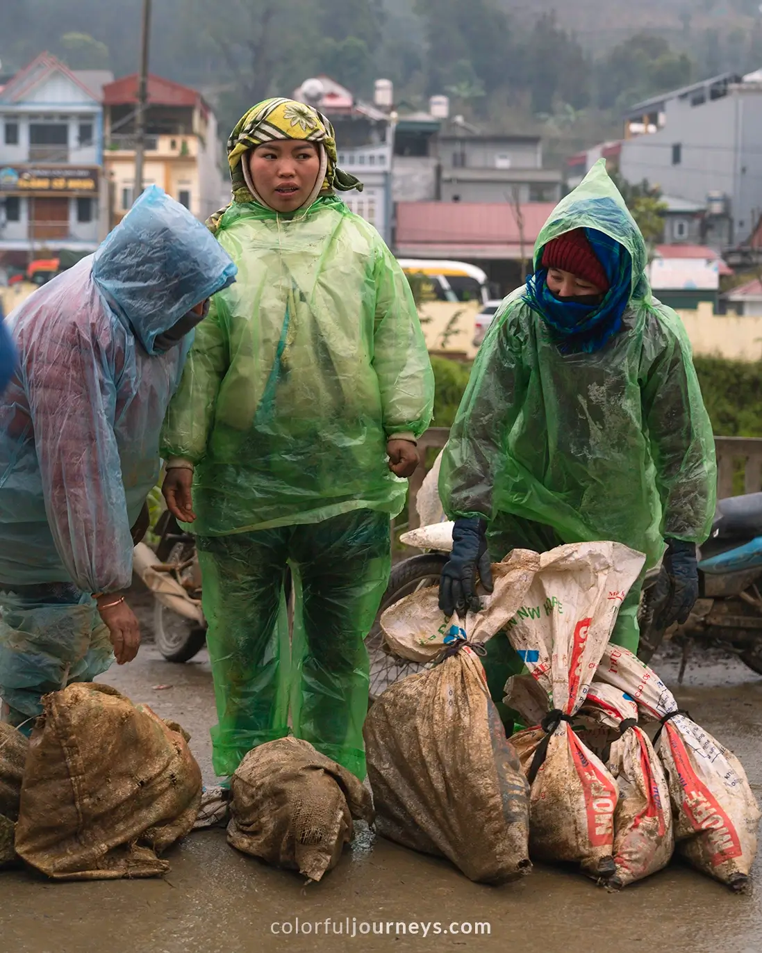
<path fill-rule="evenodd" d="M 529 873 L 527 782 L 484 668 L 463 640 L 391 685 L 365 721 L 376 828 L 447 857 L 472 881 Z"/>

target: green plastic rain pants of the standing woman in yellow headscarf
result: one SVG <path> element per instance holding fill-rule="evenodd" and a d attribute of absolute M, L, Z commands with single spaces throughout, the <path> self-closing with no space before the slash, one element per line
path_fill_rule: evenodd
<path fill-rule="evenodd" d="M 291 732 L 360 780 L 371 630 L 391 569 L 388 514 L 198 537 L 218 724 L 217 775 Z M 289 625 L 287 566 L 294 587 Z"/>

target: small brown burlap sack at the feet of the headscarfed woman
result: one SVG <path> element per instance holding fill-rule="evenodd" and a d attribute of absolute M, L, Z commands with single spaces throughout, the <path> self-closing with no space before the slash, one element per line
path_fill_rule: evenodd
<path fill-rule="evenodd" d="M 231 791 L 228 842 L 311 881 L 339 862 L 352 820 L 373 820 L 362 782 L 291 736 L 251 750 L 232 776 Z"/>

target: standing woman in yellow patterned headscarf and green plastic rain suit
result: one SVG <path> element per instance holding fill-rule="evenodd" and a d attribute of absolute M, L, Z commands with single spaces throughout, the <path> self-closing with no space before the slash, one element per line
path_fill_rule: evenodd
<path fill-rule="evenodd" d="M 363 639 L 431 419 L 431 364 L 400 267 L 334 194 L 362 186 L 336 168 L 328 119 L 267 100 L 228 151 L 233 201 L 210 227 L 238 284 L 212 298 L 163 439 L 165 497 L 197 534 L 214 768 L 230 775 L 291 721 L 362 778 Z"/>

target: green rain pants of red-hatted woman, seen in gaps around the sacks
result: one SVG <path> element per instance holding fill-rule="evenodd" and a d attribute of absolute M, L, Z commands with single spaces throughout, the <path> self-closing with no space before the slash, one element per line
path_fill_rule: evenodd
<path fill-rule="evenodd" d="M 505 558 L 511 552 L 511 549 L 533 549 L 537 553 L 547 553 L 548 550 L 564 544 L 564 540 L 556 534 L 551 526 L 531 522 L 531 520 L 522 517 L 513 517 L 509 514 L 501 514 L 491 523 L 487 541 L 493 562 Z M 631 652 L 637 652 L 640 639 L 637 610 L 640 604 L 640 591 L 643 587 L 644 576 L 645 570 L 622 602 L 612 632 L 612 642 L 615 645 L 630 649 Z M 500 718 L 506 726 L 506 734 L 511 735 L 513 724 L 518 721 L 519 716 L 503 703 L 505 684 L 511 678 L 511 675 L 526 672 L 524 663 L 519 659 L 505 632 L 497 633 L 493 639 L 487 642 L 487 656 L 482 661 L 487 674 L 487 685 L 490 689 L 491 698 L 497 705 Z"/>

